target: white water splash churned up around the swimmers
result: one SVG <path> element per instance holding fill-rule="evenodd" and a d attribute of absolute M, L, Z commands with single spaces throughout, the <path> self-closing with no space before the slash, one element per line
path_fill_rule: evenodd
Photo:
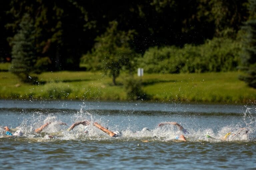
<path fill-rule="evenodd" d="M 31 141 L 51 141 L 51 140 L 99 140 L 99 141 L 131 141 L 131 140 L 139 140 L 139 141 L 176 141 L 176 136 L 183 134 L 177 127 L 175 126 L 163 126 L 157 127 L 157 124 L 160 122 L 156 122 L 155 126 L 150 127 L 149 130 L 142 130 L 144 128 L 144 122 L 139 123 L 139 127 L 136 127 L 134 121 L 137 121 L 137 115 L 135 112 L 130 112 L 129 114 L 125 113 L 125 117 L 120 117 L 115 115 L 115 119 L 113 120 L 113 115 L 104 115 L 95 114 L 95 112 L 91 111 L 88 108 L 86 103 L 84 102 L 81 105 L 81 108 L 78 111 L 71 110 L 68 113 L 64 113 L 62 111 L 57 111 L 52 113 L 52 110 L 47 111 L 34 111 L 29 113 L 21 113 L 19 116 L 19 121 L 21 121 L 18 127 L 11 127 L 12 131 L 21 129 L 24 133 L 22 140 L 27 139 Z M 183 119 L 185 117 L 190 117 L 190 123 L 183 122 L 181 124 L 184 128 L 186 128 L 190 133 L 184 134 L 188 141 L 197 142 L 197 141 L 209 141 L 209 142 L 224 142 L 224 141 L 252 141 L 255 140 L 255 113 L 256 108 L 247 107 L 243 116 L 241 117 L 241 121 L 238 123 L 230 123 L 226 126 L 222 126 L 218 128 L 218 126 L 209 125 L 210 127 L 201 127 L 200 125 L 195 125 L 196 119 L 198 116 L 195 115 L 176 115 L 175 117 L 170 117 L 168 115 L 164 115 L 163 119 Z M 29 114 L 29 116 L 28 116 Z M 150 116 L 150 115 L 148 115 Z M 124 119 L 125 118 L 125 119 Z M 151 118 L 151 121 L 154 122 L 155 117 Z M 72 131 L 67 131 L 73 123 L 78 121 L 90 120 L 91 124 L 88 126 L 79 125 L 75 127 Z M 175 120 L 174 120 L 175 121 Z M 39 128 L 45 123 L 51 122 L 49 126 L 41 133 L 35 133 L 34 130 Z M 67 126 L 60 125 L 60 122 L 67 123 Z M 123 133 L 122 137 L 109 137 L 106 133 L 97 129 L 93 126 L 93 122 L 99 122 L 102 126 L 108 127 L 110 130 L 121 130 Z M 124 124 L 126 124 L 124 126 Z M 193 126 L 190 126 L 190 125 Z M 4 126 L 0 126 L 3 129 Z M 216 128 L 217 127 L 217 128 Z M 242 129 L 244 128 L 244 129 Z M 248 130 L 246 133 L 245 131 Z M 85 133 L 85 131 L 88 131 Z M 225 139 L 224 136 L 231 132 Z M 49 135 L 55 136 L 54 138 L 50 138 Z M 209 137 L 210 136 L 210 137 Z M 0 131 L 0 137 L 6 137 L 4 130 Z"/>

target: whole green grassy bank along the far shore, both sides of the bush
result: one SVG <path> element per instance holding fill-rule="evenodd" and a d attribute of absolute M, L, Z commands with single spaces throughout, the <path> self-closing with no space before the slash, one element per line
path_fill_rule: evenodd
<path fill-rule="evenodd" d="M 143 90 L 151 101 L 199 103 L 255 103 L 256 89 L 237 79 L 238 72 L 201 74 L 146 74 Z M 0 72 L 1 99 L 38 100 L 112 100 L 126 101 L 123 80 L 97 72 L 45 72 L 38 75 L 38 85 L 27 85 L 10 72 Z M 135 75 L 135 78 L 137 76 Z"/>

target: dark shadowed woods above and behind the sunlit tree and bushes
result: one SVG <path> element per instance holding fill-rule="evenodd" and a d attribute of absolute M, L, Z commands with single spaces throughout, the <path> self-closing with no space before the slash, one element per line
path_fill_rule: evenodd
<path fill-rule="evenodd" d="M 143 53 L 150 46 L 201 44 L 234 34 L 248 17 L 247 0 L 10 0 L 1 8 L 1 29 L 17 33 L 24 13 L 35 21 L 36 48 L 39 57 L 49 57 L 52 68 L 72 69 L 97 36 L 104 34 L 110 21 L 120 30 L 135 30 L 131 42 Z M 4 15 L 4 12 L 1 13 Z M 6 40 L 1 40 L 6 41 Z M 1 56 L 3 54 L 0 54 Z"/>

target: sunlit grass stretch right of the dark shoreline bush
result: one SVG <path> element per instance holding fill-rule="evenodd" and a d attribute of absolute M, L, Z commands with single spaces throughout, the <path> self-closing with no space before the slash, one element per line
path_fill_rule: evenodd
<path fill-rule="evenodd" d="M 200 103 L 251 103 L 256 100 L 256 89 L 238 80 L 238 72 L 203 74 L 152 74 L 144 81 L 161 77 L 159 82 L 144 87 L 153 100 Z"/>

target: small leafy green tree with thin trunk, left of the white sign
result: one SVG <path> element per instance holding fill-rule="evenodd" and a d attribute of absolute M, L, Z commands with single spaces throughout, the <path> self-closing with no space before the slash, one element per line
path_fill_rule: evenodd
<path fill-rule="evenodd" d="M 119 31 L 117 26 L 116 21 L 110 22 L 106 32 L 95 39 L 91 55 L 86 56 L 93 69 L 104 70 L 113 77 L 114 85 L 122 68 L 133 71 L 132 60 L 139 55 L 129 46 L 134 30 Z"/>

